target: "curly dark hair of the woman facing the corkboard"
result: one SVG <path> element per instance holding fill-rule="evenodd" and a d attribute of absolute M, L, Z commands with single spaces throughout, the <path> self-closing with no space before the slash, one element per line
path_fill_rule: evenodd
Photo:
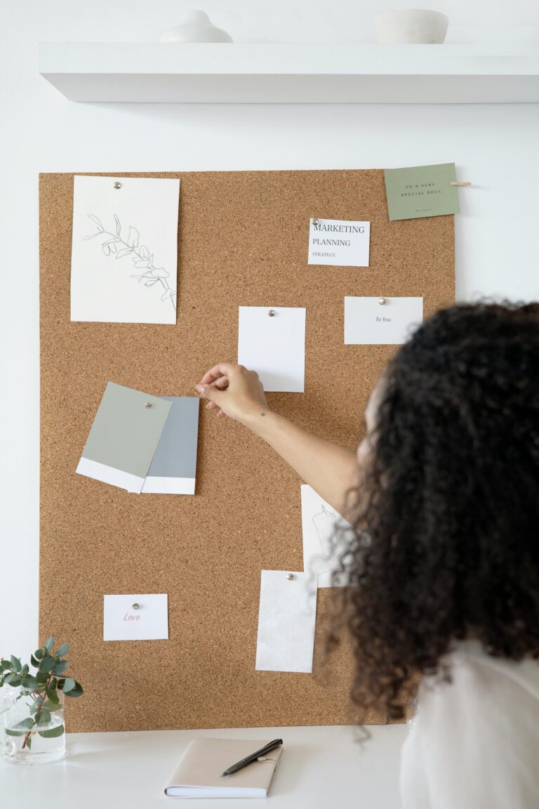
<path fill-rule="evenodd" d="M 539 304 L 425 321 L 369 439 L 342 560 L 352 699 L 395 720 L 455 639 L 539 657 Z"/>

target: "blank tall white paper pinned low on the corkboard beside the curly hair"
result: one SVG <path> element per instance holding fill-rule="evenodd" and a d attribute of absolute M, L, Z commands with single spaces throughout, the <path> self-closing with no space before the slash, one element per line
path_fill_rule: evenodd
<path fill-rule="evenodd" d="M 313 671 L 317 590 L 306 573 L 263 570 L 256 671 Z"/>

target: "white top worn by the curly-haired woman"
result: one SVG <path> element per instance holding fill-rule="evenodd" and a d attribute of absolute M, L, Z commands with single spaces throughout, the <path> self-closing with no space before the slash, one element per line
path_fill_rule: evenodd
<path fill-rule="evenodd" d="M 445 660 L 453 682 L 419 688 L 402 809 L 537 809 L 539 663 L 493 658 L 473 641 Z"/>

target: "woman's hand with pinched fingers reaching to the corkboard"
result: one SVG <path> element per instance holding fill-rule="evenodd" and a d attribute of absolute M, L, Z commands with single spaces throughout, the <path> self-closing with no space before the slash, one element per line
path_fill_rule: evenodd
<path fill-rule="evenodd" d="M 259 375 L 242 365 L 219 362 L 204 374 L 196 390 L 208 400 L 208 409 L 244 425 L 252 417 L 269 413 Z"/>

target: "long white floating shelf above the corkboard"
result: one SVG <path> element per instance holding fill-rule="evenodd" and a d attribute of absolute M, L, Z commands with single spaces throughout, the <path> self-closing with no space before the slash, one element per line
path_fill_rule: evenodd
<path fill-rule="evenodd" d="M 40 74 L 72 101 L 539 102 L 539 48 L 501 44 L 44 42 Z"/>

